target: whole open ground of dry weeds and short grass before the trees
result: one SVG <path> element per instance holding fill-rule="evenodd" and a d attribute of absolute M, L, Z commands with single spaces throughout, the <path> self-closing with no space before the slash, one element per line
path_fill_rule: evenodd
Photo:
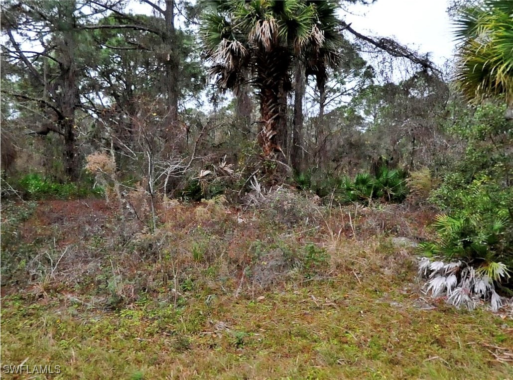
<path fill-rule="evenodd" d="M 75 230 L 54 206 L 2 242 L 68 249 L 45 281 L 3 287 L 2 365 L 61 365 L 56 379 L 513 377 L 509 316 L 421 297 L 390 237 L 427 233 L 422 213 L 292 210 L 294 227 L 273 210 L 165 200 L 154 233 L 103 212 L 90 234 L 94 218 Z M 55 242 L 36 228 L 50 218 Z"/>

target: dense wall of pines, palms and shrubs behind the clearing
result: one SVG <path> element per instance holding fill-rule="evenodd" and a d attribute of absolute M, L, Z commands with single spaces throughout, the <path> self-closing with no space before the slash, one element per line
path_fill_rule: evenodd
<path fill-rule="evenodd" d="M 330 205 L 431 203 L 424 253 L 504 279 L 492 268 L 513 266 L 511 2 L 459 8 L 458 86 L 352 29 L 338 2 L 140 5 L 2 3 L 3 194 L 97 195 L 93 173 L 120 208 L 147 196 L 137 217 L 153 229 L 160 199 L 242 203 L 285 184 Z M 369 49 L 409 65 L 384 73 Z"/>

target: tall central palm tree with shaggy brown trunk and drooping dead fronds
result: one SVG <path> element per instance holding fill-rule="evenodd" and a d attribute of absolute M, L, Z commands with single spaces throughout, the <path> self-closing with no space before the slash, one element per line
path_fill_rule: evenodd
<path fill-rule="evenodd" d="M 310 70 L 321 76 L 325 63 L 335 56 L 322 51 L 329 47 L 329 33 L 323 30 L 326 26 L 319 17 L 323 15 L 320 10 L 327 12 L 328 8 L 304 0 L 225 0 L 208 4 L 201 34 L 204 56 L 212 62 L 209 74 L 222 90 L 236 90 L 249 81 L 260 102 L 262 156 L 272 159 L 281 152 L 285 157 L 287 94 L 292 88 L 294 62 L 303 58 L 305 73 Z M 336 6 L 329 4 L 334 13 Z M 311 62 L 306 61 L 307 56 Z"/>

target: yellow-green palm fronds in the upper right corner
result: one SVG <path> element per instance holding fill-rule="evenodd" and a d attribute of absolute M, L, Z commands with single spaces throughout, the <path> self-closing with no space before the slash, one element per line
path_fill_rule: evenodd
<path fill-rule="evenodd" d="M 485 0 L 456 21 L 457 81 L 473 101 L 504 95 L 513 106 L 513 2 Z"/>

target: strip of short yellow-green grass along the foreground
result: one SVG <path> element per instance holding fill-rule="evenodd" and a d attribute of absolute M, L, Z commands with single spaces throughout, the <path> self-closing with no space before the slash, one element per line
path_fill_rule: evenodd
<path fill-rule="evenodd" d="M 511 321 L 486 311 L 424 311 L 411 297 L 380 296 L 391 290 L 385 285 L 358 289 L 340 279 L 263 299 L 219 295 L 207 305 L 192 296 L 177 309 L 149 301 L 117 312 L 96 310 L 87 297 L 73 304 L 63 295 L 7 296 L 3 364 L 28 357 L 31 365 L 61 365 L 54 378 L 66 379 L 513 376 L 487 351 L 511 349 L 503 326 Z"/>

